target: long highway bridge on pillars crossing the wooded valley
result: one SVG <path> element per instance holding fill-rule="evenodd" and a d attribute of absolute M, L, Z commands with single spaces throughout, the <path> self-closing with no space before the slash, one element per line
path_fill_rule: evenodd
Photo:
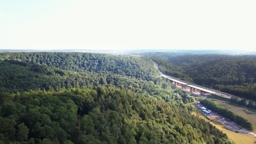
<path fill-rule="evenodd" d="M 158 69 L 157 63 L 154 63 L 154 66 L 156 69 Z M 158 71 L 159 71 L 159 69 L 158 69 Z M 191 83 L 191 82 L 186 82 L 186 81 L 176 79 L 175 77 L 162 74 L 161 71 L 159 71 L 159 73 L 162 77 L 165 77 L 166 79 L 170 80 L 174 84 L 175 87 L 181 87 L 183 91 L 187 91 L 187 92 L 194 93 L 194 94 L 196 94 L 196 92 L 199 92 L 200 95 L 215 94 L 215 95 L 219 95 L 220 97 L 224 97 L 224 98 L 228 98 L 228 99 L 231 99 L 231 97 L 235 97 L 235 95 L 232 95 L 232 94 L 223 93 L 220 91 L 216 91 L 215 89 L 202 87 L 199 85 L 195 85 L 194 83 Z M 188 90 L 188 89 L 190 89 L 190 90 Z"/>

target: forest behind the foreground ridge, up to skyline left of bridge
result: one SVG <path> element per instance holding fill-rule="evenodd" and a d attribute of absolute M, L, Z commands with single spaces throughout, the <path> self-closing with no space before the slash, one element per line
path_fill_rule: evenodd
<path fill-rule="evenodd" d="M 3 92 L 97 85 L 137 89 L 146 82 L 143 80 L 159 82 L 153 62 L 150 64 L 150 61 L 132 57 L 36 52 L 0 53 L 0 56 L 0 91 Z M 135 82 L 135 85 L 131 84 Z"/>

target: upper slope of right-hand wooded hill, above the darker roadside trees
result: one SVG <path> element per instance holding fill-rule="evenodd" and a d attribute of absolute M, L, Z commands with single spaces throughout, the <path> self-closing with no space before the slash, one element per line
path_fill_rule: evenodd
<path fill-rule="evenodd" d="M 214 86 L 256 82 L 255 71 L 256 60 L 222 60 L 193 65 L 186 73 L 201 85 Z"/>

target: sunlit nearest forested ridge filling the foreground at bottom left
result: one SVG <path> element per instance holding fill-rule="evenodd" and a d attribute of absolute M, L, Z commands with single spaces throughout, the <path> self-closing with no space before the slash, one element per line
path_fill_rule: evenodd
<path fill-rule="evenodd" d="M 4 103 L 21 106 L 9 112 L 2 109 Z M 119 88 L 6 94 L 0 104 L 5 142 L 229 143 L 225 134 L 185 108 Z"/>

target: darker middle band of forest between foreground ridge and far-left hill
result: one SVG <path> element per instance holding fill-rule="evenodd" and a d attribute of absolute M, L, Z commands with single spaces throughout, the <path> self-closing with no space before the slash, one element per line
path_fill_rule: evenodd
<path fill-rule="evenodd" d="M 47 91 L 98 85 L 139 91 L 144 83 L 148 83 L 134 77 L 117 74 L 98 74 L 86 71 L 77 73 L 43 65 L 20 65 L 8 61 L 0 62 L 0 71 L 0 92 L 18 92 L 30 89 L 45 89 Z M 159 82 L 159 79 L 155 79 L 154 82 Z"/>

